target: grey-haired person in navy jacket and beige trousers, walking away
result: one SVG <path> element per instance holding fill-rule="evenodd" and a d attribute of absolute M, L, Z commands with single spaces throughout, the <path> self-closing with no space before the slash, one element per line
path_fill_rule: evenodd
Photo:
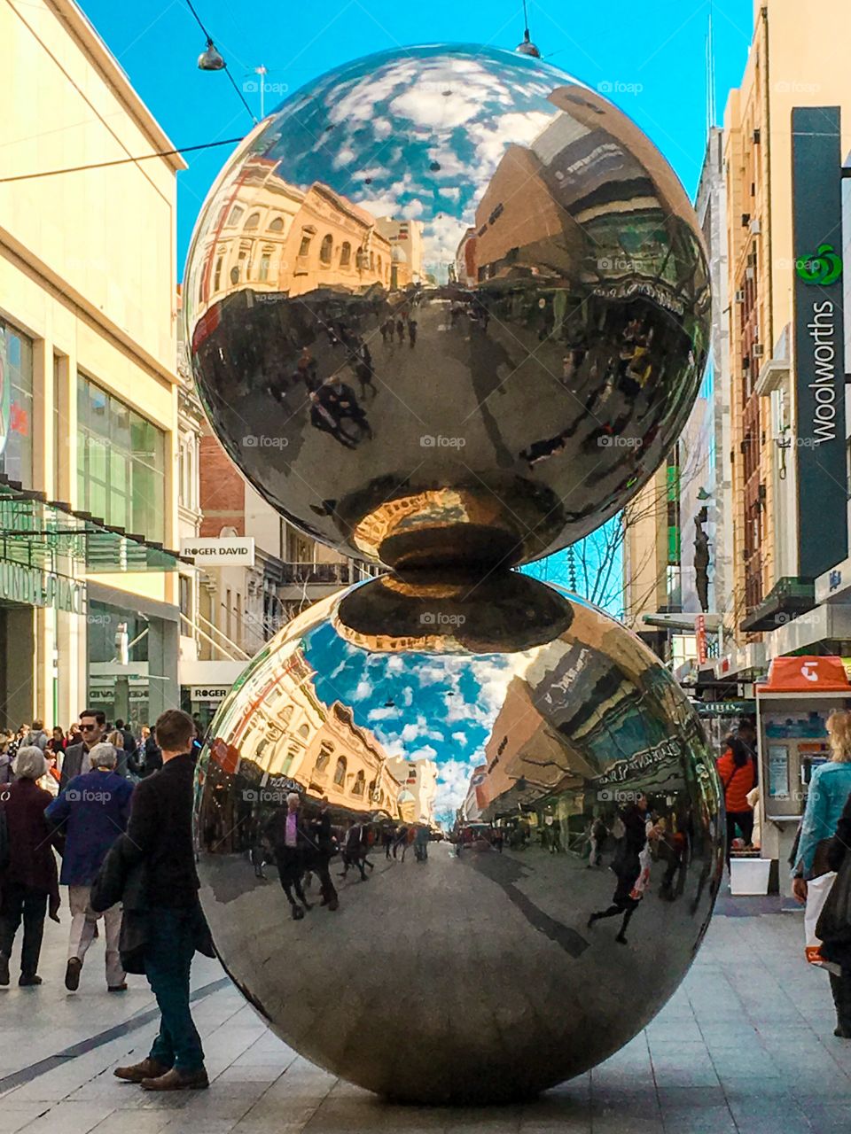
<path fill-rule="evenodd" d="M 121 907 L 116 904 L 102 915 L 95 914 L 89 899 L 107 852 L 127 827 L 133 785 L 116 772 L 117 753 L 112 744 L 95 744 L 89 760 L 92 770 L 75 776 L 45 811 L 50 822 L 65 835 L 59 881 L 68 887 L 71 912 L 65 987 L 69 992 L 79 988 L 83 962 L 94 940 L 98 919 L 102 916 L 107 937 L 107 988 L 110 992 L 124 992 L 127 984 L 118 954 Z"/>

